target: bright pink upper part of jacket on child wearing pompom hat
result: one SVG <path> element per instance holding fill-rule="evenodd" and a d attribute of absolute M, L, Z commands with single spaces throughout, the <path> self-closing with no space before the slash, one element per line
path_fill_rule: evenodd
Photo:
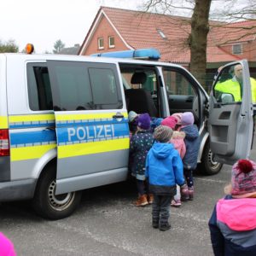
<path fill-rule="evenodd" d="M 217 219 L 231 230 L 256 229 L 256 198 L 224 200 L 217 203 Z"/>

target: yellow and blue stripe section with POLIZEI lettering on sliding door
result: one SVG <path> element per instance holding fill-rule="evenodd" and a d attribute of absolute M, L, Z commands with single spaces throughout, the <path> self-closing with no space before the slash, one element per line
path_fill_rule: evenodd
<path fill-rule="evenodd" d="M 100 154 L 129 148 L 128 115 L 116 113 L 56 114 L 58 158 Z"/>

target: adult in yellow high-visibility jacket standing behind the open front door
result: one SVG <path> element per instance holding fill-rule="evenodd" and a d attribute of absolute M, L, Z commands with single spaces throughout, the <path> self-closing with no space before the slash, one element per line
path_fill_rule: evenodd
<path fill-rule="evenodd" d="M 242 91 L 242 66 L 236 65 L 234 67 L 234 77 L 232 79 L 226 80 L 223 83 L 216 84 L 214 90 L 218 90 L 222 93 L 230 93 L 234 96 L 235 102 L 241 102 L 241 91 Z M 251 93 L 252 101 L 256 103 L 256 80 L 250 78 L 251 81 Z"/>

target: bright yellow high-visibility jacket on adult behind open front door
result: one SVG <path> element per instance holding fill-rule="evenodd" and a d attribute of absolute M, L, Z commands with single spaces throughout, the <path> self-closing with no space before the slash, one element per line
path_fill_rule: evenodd
<path fill-rule="evenodd" d="M 250 78 L 251 90 L 252 90 L 252 101 L 256 102 L 256 80 Z M 241 85 L 236 79 L 229 79 L 223 83 L 216 84 L 214 90 L 220 92 L 230 93 L 234 96 L 235 102 L 241 102 Z"/>

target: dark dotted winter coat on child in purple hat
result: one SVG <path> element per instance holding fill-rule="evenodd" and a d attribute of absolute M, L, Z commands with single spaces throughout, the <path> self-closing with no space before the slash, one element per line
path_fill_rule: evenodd
<path fill-rule="evenodd" d="M 154 138 L 150 131 L 137 131 L 137 134 L 131 137 L 131 174 L 137 179 L 145 179 L 146 156 L 153 143 Z"/>

